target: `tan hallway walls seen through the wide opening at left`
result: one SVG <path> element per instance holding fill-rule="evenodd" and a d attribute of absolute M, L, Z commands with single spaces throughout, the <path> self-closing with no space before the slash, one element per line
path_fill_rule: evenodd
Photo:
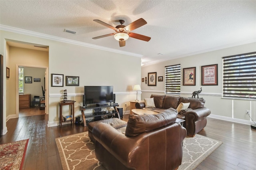
<path fill-rule="evenodd" d="M 36 85 L 44 82 L 44 91 L 45 91 L 45 109 L 42 110 L 44 114 L 48 114 L 48 65 L 49 65 L 49 47 L 45 45 L 38 45 L 26 42 L 17 42 L 8 40 L 6 42 L 7 48 L 6 52 L 8 55 L 7 65 L 10 67 L 10 78 L 6 81 L 6 113 L 9 113 L 10 118 L 19 117 L 19 79 L 18 71 L 20 67 L 28 67 L 30 69 L 40 68 L 44 69 L 44 76 L 37 77 L 33 75 L 34 71 L 29 71 L 26 77 L 30 77 L 30 85 Z M 41 47 L 42 48 L 41 48 Z M 25 77 L 24 77 L 25 78 Z M 36 78 L 36 80 L 34 80 Z M 40 82 L 38 82 L 40 78 Z M 26 84 L 28 85 L 28 84 Z M 29 87 L 29 86 L 28 86 Z M 31 93 L 30 104 L 34 100 L 34 96 L 42 97 L 42 86 L 39 85 L 37 88 L 38 94 Z M 28 92 L 25 92 L 28 93 Z M 30 92 L 29 92 L 30 93 Z M 14 102 L 15 101 L 15 102 Z M 42 112 L 40 111 L 40 112 Z M 15 114 L 15 115 L 14 115 Z"/>

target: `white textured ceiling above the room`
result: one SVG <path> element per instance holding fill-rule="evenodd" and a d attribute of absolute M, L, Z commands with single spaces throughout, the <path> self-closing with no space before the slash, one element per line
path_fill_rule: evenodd
<path fill-rule="evenodd" d="M 114 33 L 93 20 L 116 27 L 120 19 L 127 26 L 139 18 L 148 24 L 132 32 L 149 42 L 129 38 L 119 47 L 114 36 L 92 39 Z M 0 28 L 6 26 L 136 53 L 147 65 L 256 42 L 256 1 L 0 0 Z"/>

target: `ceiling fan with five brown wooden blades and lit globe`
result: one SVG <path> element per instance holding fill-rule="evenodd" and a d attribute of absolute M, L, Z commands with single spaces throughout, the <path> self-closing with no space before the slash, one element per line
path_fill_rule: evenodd
<path fill-rule="evenodd" d="M 136 38 L 138 40 L 143 40 L 143 41 L 146 41 L 146 42 L 148 42 L 151 39 L 150 37 L 130 32 L 132 30 L 135 30 L 136 28 L 139 28 L 139 27 L 144 26 L 145 24 L 147 24 L 147 22 L 143 18 L 140 18 L 140 19 L 132 22 L 128 26 L 123 25 L 124 20 L 119 20 L 121 25 L 116 26 L 116 27 L 110 26 L 109 24 L 106 24 L 105 22 L 102 22 L 100 20 L 94 20 L 94 21 L 99 23 L 99 24 L 102 24 L 103 26 L 111 28 L 116 32 L 116 33 L 106 34 L 104 36 L 98 36 L 98 37 L 92 38 L 94 40 L 99 39 L 99 38 L 108 37 L 108 36 L 114 36 L 114 38 L 119 41 L 119 46 L 124 47 L 125 46 L 125 41 L 129 37 Z"/>

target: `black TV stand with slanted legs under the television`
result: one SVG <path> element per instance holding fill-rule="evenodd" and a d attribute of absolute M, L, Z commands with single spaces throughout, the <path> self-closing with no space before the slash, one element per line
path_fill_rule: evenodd
<path fill-rule="evenodd" d="M 80 110 L 81 110 L 82 118 L 83 118 L 83 122 L 84 122 L 84 127 L 86 127 L 86 118 L 101 117 L 101 116 L 103 116 L 103 115 L 114 115 L 114 114 L 117 113 L 118 119 L 121 119 L 121 118 L 120 118 L 120 115 L 119 115 L 119 112 L 118 112 L 118 109 L 117 109 L 118 106 L 119 106 L 118 103 L 114 103 L 114 104 L 112 104 L 112 105 L 104 105 L 104 106 L 102 106 L 102 105 L 101 105 L 101 106 L 96 105 L 96 107 L 88 107 L 88 105 L 87 105 L 87 106 L 80 106 Z M 106 112 L 106 111 L 101 111 L 102 108 L 106 108 L 106 107 L 114 107 L 114 110 L 115 110 L 116 112 L 115 112 L 115 113 L 112 113 L 112 112 L 110 113 L 110 112 Z M 96 114 L 93 113 L 92 116 L 85 116 L 85 115 L 84 115 L 84 111 L 85 111 L 86 109 L 94 109 L 94 110 L 97 111 L 97 112 L 96 112 Z"/>

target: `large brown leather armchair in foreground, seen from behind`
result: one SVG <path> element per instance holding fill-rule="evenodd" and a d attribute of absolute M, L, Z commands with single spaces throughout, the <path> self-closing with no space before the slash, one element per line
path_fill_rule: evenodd
<path fill-rule="evenodd" d="M 92 134 L 95 154 L 108 170 L 174 170 L 182 162 L 186 129 L 176 123 L 177 111 L 130 115 L 127 127 L 97 123 Z"/>

